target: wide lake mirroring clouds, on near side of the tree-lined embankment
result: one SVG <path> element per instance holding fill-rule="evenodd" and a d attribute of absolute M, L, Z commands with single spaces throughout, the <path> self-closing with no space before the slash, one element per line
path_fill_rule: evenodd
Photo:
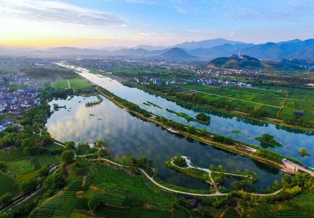
<path fill-rule="evenodd" d="M 160 179 L 186 188 L 208 189 L 209 186 L 166 167 L 164 163 L 175 155 L 189 156 L 194 164 L 201 167 L 222 164 L 229 171 L 245 168 L 254 170 L 259 176 L 259 182 L 256 184 L 258 189 L 271 186 L 274 180 L 280 180 L 282 176 L 282 172 L 269 171 L 267 166 L 262 168 L 261 164 L 249 158 L 171 134 L 156 124 L 143 122 L 107 99 L 93 108 L 84 106 L 86 102 L 95 100 L 96 97 L 84 99 L 75 96 L 70 101 L 52 101 L 50 105 L 66 105 L 71 111 L 55 111 L 48 120 L 48 131 L 61 141 L 108 141 L 112 155 L 120 158 L 123 155 L 150 157 L 158 169 Z M 225 186 L 230 188 L 230 183 Z"/>

